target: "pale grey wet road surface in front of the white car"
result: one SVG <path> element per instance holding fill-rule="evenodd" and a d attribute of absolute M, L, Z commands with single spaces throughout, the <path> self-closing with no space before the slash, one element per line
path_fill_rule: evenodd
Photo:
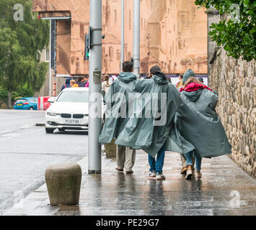
<path fill-rule="evenodd" d="M 0 109 L 0 215 L 45 182 L 49 165 L 87 155 L 86 132 L 46 134 L 45 111 Z"/>

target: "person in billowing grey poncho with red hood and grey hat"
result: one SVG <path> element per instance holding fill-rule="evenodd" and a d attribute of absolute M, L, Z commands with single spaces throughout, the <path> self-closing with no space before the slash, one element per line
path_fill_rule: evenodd
<path fill-rule="evenodd" d="M 226 132 L 221 120 L 216 114 L 218 96 L 193 75 L 193 70 L 187 70 L 185 86 L 180 89 L 182 104 L 177 109 L 175 130 L 177 135 L 190 142 L 194 150 L 182 152 L 187 161 L 186 179 L 193 176 L 192 165 L 195 155 L 195 177 L 200 178 L 202 157 L 219 157 L 231 153 L 231 145 L 226 137 Z M 168 143 L 175 140 L 171 133 Z M 176 135 L 176 136 L 177 136 Z M 170 144 L 169 148 L 175 145 Z"/>

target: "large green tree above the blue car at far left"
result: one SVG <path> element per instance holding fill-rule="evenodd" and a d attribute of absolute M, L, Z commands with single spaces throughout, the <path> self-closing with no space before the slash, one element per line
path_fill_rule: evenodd
<path fill-rule="evenodd" d="M 23 6 L 23 21 L 14 20 L 16 4 Z M 0 86 L 12 92 L 21 88 L 39 91 L 48 70 L 40 63 L 40 52 L 49 42 L 49 23 L 37 19 L 31 0 L 0 1 Z"/>

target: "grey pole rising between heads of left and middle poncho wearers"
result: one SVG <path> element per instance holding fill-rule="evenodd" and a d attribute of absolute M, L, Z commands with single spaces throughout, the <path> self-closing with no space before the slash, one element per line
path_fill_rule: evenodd
<path fill-rule="evenodd" d="M 140 73 L 140 0 L 134 0 L 133 10 L 133 73 Z"/>

